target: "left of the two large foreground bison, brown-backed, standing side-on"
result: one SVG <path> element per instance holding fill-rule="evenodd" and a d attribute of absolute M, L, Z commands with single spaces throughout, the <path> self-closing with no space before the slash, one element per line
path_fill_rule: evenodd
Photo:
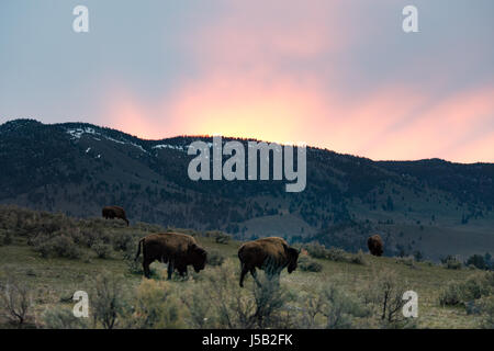
<path fill-rule="evenodd" d="M 135 260 L 141 254 L 141 246 L 143 247 L 143 269 L 146 278 L 149 278 L 149 264 L 154 261 L 168 263 L 168 279 L 171 279 L 175 269 L 184 276 L 187 267 L 190 264 L 199 273 L 204 269 L 207 259 L 206 251 L 198 246 L 194 238 L 186 234 L 162 233 L 142 238 Z"/>

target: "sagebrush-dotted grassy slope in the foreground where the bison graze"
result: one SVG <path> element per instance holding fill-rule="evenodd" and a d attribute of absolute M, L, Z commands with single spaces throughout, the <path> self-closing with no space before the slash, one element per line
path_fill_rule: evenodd
<path fill-rule="evenodd" d="M 303 250 L 292 274 L 283 271 L 278 290 L 259 290 L 251 276 L 240 288 L 236 254 L 242 242 L 216 231 L 173 229 L 193 235 L 209 251 L 212 264 L 199 274 L 189 269 L 188 279 L 176 276 L 168 282 L 166 267 L 155 262 L 153 279 L 146 280 L 130 260 L 136 239 L 167 228 L 142 223 L 127 228 L 119 220 L 0 210 L 1 293 L 4 296 L 8 286 L 29 287 L 32 307 L 24 327 L 104 327 L 100 317 L 83 324 L 71 317 L 71 296 L 80 290 L 89 293 L 91 317 L 97 304 L 104 301 L 102 294 L 122 301 L 115 328 L 493 327 L 494 274 L 459 262 L 448 269 L 411 258 L 377 258 L 305 246 L 308 254 Z M 316 269 L 304 270 L 307 263 Z M 403 320 L 397 314 L 381 319 L 382 283 L 390 284 L 392 296 L 415 291 L 418 318 Z M 261 320 L 252 317 L 259 309 L 265 314 Z M 4 308 L 0 325 L 18 327 Z"/>

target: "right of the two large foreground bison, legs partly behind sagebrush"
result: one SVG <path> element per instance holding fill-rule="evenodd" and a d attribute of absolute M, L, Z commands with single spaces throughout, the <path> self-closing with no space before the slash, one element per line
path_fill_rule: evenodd
<path fill-rule="evenodd" d="M 258 285 L 256 268 L 266 272 L 269 278 L 279 278 L 281 271 L 287 267 L 289 273 L 296 269 L 299 250 L 289 247 L 282 238 L 261 238 L 244 244 L 238 249 L 240 260 L 240 286 L 244 287 L 244 278 L 250 272 Z"/>

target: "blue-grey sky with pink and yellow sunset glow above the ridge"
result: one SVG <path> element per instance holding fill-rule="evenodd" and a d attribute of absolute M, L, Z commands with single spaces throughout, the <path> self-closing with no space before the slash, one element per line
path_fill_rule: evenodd
<path fill-rule="evenodd" d="M 492 0 L 1 0 L 0 123 L 494 162 L 493 43 Z"/>

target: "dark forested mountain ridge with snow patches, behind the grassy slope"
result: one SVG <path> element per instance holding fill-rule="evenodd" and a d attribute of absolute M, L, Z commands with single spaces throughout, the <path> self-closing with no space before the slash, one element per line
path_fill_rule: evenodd
<path fill-rule="evenodd" d="M 310 147 L 307 186 L 287 193 L 284 182 L 191 181 L 187 148 L 199 139 L 212 140 L 14 120 L 0 126 L 0 203 L 79 217 L 119 204 L 134 223 L 238 239 L 279 235 L 352 252 L 371 233 L 382 234 L 388 256 L 494 252 L 492 163 L 372 161 Z"/>

